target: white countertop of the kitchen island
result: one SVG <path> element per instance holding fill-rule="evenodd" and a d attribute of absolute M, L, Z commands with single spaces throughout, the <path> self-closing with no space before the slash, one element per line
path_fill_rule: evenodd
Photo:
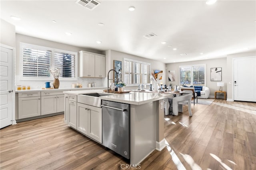
<path fill-rule="evenodd" d="M 103 90 L 79 90 L 79 91 L 67 91 L 64 93 L 72 94 L 72 95 L 80 95 L 80 94 L 88 94 L 88 93 L 106 94 L 106 92 L 103 92 Z M 108 93 L 108 94 L 110 95 L 100 96 L 100 98 L 102 100 L 108 100 L 112 102 L 120 102 L 120 103 L 126 103 L 126 104 L 134 104 L 134 105 L 142 105 L 148 102 L 154 102 L 154 101 L 172 96 L 172 94 L 140 93 L 140 92 L 130 92 L 130 93 L 123 93 L 123 94 Z"/>

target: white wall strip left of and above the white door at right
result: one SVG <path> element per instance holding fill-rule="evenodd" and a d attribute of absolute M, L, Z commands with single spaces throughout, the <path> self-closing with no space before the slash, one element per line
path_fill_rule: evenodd
<path fill-rule="evenodd" d="M 250 51 L 246 53 L 236 53 L 236 54 L 230 54 L 227 55 L 227 82 L 231 82 L 232 84 L 227 84 L 227 100 L 228 101 L 234 101 L 234 95 L 233 95 L 233 78 L 234 78 L 234 68 L 233 68 L 233 59 L 234 58 L 239 58 L 239 57 L 252 57 L 256 56 L 256 51 Z"/>

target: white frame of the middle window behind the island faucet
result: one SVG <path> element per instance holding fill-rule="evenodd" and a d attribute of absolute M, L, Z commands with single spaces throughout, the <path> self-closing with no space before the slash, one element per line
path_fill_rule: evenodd
<path fill-rule="evenodd" d="M 131 76 L 131 77 L 133 77 L 133 82 L 136 82 L 136 74 L 138 74 L 138 75 L 140 75 L 140 74 L 142 74 L 142 78 L 143 78 L 143 68 L 142 68 L 142 72 L 137 72 L 136 73 L 136 63 L 138 63 L 138 64 L 145 64 L 146 65 L 146 72 L 147 72 L 147 68 L 148 68 L 148 66 L 150 66 L 150 68 L 149 68 L 149 72 L 147 72 L 147 76 L 149 76 L 150 77 L 150 70 L 151 70 L 151 63 L 146 63 L 146 62 L 143 62 L 143 61 L 138 61 L 138 60 L 133 60 L 133 59 L 127 59 L 127 58 L 124 58 L 124 73 L 123 73 L 123 78 L 124 78 L 124 80 L 122 80 L 123 82 L 125 82 L 125 70 L 126 70 L 126 68 L 125 68 L 125 61 L 129 61 L 129 62 L 134 62 L 134 68 L 133 68 L 133 75 Z M 143 67 L 143 65 L 142 65 L 142 67 Z M 130 74 L 130 73 L 129 73 Z M 125 82 L 126 83 L 126 82 Z M 144 83 L 132 83 L 132 84 L 127 84 L 126 83 L 126 85 L 127 86 L 138 86 L 139 84 L 143 84 L 143 85 L 149 85 L 150 84 L 150 78 L 149 78 L 149 82 L 147 82 L 146 84 L 144 84 Z"/>

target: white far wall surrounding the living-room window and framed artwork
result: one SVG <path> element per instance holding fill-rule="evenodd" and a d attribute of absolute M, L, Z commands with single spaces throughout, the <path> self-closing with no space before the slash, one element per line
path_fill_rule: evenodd
<path fill-rule="evenodd" d="M 226 58 L 219 59 L 209 59 L 209 60 L 200 60 L 200 61 L 190 61 L 190 62 L 182 62 L 182 63 L 170 63 L 166 64 L 166 82 L 169 85 L 170 83 L 174 85 L 179 84 L 179 66 L 186 65 L 196 65 L 196 64 L 206 64 L 206 86 L 210 88 L 210 96 L 214 96 L 214 92 L 218 90 L 217 81 L 210 81 L 210 68 L 221 67 L 222 68 L 222 81 L 225 82 L 225 86 L 223 87 L 223 91 L 226 91 L 226 82 L 227 82 L 227 73 L 228 69 L 226 67 Z M 168 71 L 175 70 L 175 82 L 168 81 Z"/>

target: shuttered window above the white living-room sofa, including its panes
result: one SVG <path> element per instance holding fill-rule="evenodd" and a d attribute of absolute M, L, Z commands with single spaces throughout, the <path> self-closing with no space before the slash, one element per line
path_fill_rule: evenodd
<path fill-rule="evenodd" d="M 180 84 L 206 86 L 206 64 L 180 66 Z"/>

